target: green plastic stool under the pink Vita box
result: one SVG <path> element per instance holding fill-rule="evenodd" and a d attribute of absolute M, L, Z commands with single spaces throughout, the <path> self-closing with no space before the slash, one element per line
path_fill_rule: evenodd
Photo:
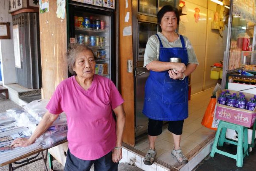
<path fill-rule="evenodd" d="M 238 133 L 238 141 L 232 141 L 226 139 L 226 131 L 227 128 L 236 130 Z M 241 136 L 243 135 L 243 136 Z M 233 155 L 227 152 L 224 152 L 222 150 L 217 149 L 217 146 L 223 146 L 224 142 L 237 145 L 237 154 Z M 211 157 L 214 157 L 215 153 L 219 153 L 222 155 L 225 155 L 227 157 L 233 158 L 237 160 L 237 167 L 243 167 L 243 158 L 248 154 L 248 128 L 232 124 L 229 122 L 225 122 L 223 120 L 220 120 L 218 129 L 215 135 L 214 143 L 212 145 L 211 149 Z"/>

